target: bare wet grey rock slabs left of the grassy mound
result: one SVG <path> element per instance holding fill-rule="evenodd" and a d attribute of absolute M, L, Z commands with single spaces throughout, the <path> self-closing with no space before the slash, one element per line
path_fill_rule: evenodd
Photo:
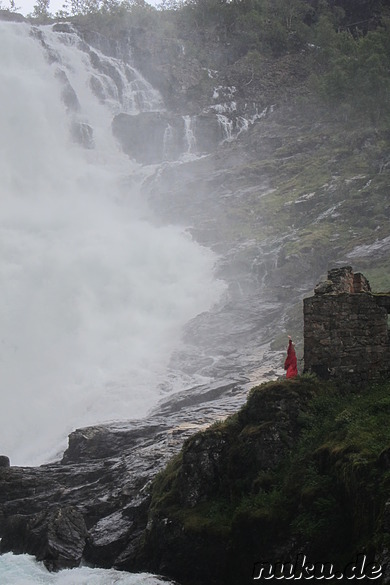
<path fill-rule="evenodd" d="M 81 558 L 145 569 L 151 480 L 185 438 L 214 420 L 218 404 L 222 415 L 227 403 L 231 412 L 244 399 L 238 382 L 197 387 L 171 397 L 147 421 L 75 431 L 61 462 L 12 467 L 2 456 L 0 550 L 33 554 L 50 570 L 78 566 Z"/>

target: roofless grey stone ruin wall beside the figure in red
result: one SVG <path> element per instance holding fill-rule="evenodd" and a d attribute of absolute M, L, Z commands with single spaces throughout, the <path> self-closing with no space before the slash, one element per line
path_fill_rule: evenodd
<path fill-rule="evenodd" d="M 353 384 L 390 376 L 390 293 L 373 294 L 351 266 L 335 268 L 304 299 L 305 372 Z"/>

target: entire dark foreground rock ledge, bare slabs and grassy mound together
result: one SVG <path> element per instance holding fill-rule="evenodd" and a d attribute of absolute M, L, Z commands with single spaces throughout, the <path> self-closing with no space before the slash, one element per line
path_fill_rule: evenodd
<path fill-rule="evenodd" d="M 51 570 L 82 555 L 181 585 L 246 585 L 261 561 L 305 554 L 342 568 L 364 553 L 390 583 L 389 391 L 304 376 L 253 388 L 195 434 L 184 417 L 167 426 L 183 396 L 147 424 L 79 430 L 61 463 L 0 468 L 2 551 Z"/>

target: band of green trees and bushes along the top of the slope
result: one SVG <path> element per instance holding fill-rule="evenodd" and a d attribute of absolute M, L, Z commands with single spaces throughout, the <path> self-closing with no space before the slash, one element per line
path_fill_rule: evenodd
<path fill-rule="evenodd" d="M 390 15 L 381 0 L 186 0 L 159 8 L 141 0 L 67 0 L 56 17 L 84 16 L 115 34 L 142 27 L 165 45 L 182 42 L 205 68 L 239 63 L 252 78 L 269 58 L 304 55 L 313 87 L 332 108 L 337 102 L 346 116 L 369 113 L 389 126 Z M 31 17 L 49 20 L 49 9 L 49 0 L 38 0 Z"/>

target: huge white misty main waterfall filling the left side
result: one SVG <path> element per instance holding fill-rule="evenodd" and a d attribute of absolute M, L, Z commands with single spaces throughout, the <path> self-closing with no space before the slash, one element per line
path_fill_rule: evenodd
<path fill-rule="evenodd" d="M 73 36 L 41 34 L 0 23 L 0 451 L 17 465 L 53 457 L 76 427 L 145 415 L 183 325 L 223 290 L 208 250 L 143 219 L 145 171 L 111 136 L 113 109 L 140 100 L 99 100 Z M 70 139 L 59 64 L 93 150 Z"/>

